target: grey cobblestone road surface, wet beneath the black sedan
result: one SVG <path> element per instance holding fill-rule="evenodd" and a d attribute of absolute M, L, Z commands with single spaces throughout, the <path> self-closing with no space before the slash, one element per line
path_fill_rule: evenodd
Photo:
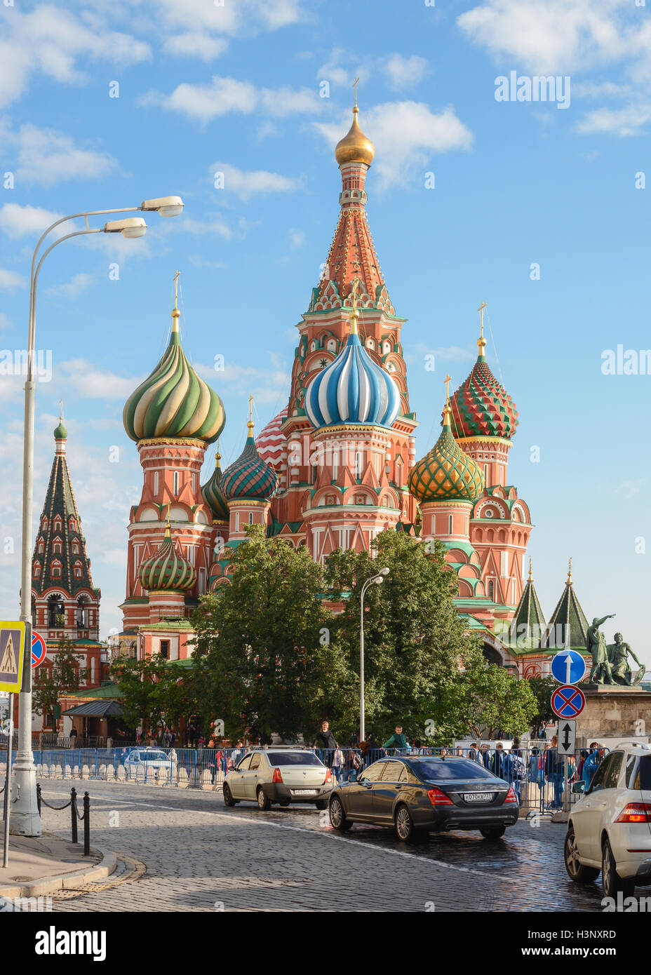
<path fill-rule="evenodd" d="M 70 782 L 41 784 L 50 802 L 69 797 Z M 496 843 L 452 833 L 405 847 L 384 829 L 336 834 L 310 807 L 260 812 L 228 809 L 220 793 L 74 785 L 91 795 L 92 844 L 124 855 L 126 879 L 55 897 L 55 911 L 600 911 L 600 884 L 570 882 L 565 828 L 547 820 L 520 820 Z M 69 816 L 44 807 L 43 827 L 69 835 Z"/>

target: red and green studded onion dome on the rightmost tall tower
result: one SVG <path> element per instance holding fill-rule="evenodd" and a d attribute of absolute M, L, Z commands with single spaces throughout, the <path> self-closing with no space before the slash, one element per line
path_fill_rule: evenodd
<path fill-rule="evenodd" d="M 477 344 L 477 362 L 451 399 L 454 435 L 457 438 L 503 437 L 511 440 L 517 427 L 516 404 L 486 362 L 483 335 Z"/>

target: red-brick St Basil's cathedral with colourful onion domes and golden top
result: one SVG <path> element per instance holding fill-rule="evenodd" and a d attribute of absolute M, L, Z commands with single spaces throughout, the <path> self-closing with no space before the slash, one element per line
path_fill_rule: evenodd
<path fill-rule="evenodd" d="M 468 631 L 479 631 L 489 660 L 530 678 L 549 673 L 556 646 L 585 652 L 588 621 L 571 571 L 548 622 L 530 565 L 523 584 L 533 526 L 526 502 L 509 484 L 517 409 L 486 361 L 483 302 L 477 362 L 445 396 L 439 439 L 417 459 L 418 424 L 402 356 L 405 319 L 394 308 L 368 228 L 365 179 L 374 147 L 358 115 L 356 103 L 350 131 L 335 148 L 339 217 L 321 280 L 296 327 L 287 407 L 257 438 L 249 409 L 242 453 L 222 472 L 217 447 L 202 485 L 206 449 L 226 416 L 183 351 L 176 299 L 168 347 L 125 405 L 142 491 L 129 518 L 123 630 L 112 641 L 114 655 L 188 657 L 192 611 L 204 593 L 228 584 L 233 549 L 251 525 L 307 546 L 321 563 L 337 548 L 370 551 L 386 529 L 426 545 L 437 538 L 457 577 L 457 609 Z M 178 273 L 176 294 L 177 279 Z M 236 422 L 244 428 L 244 417 Z M 55 437 L 60 457 L 60 430 Z M 62 498 L 66 529 L 55 531 L 51 544 L 54 509 L 46 501 L 34 553 L 36 625 L 43 628 L 40 614 L 52 616 L 55 595 L 57 605 L 70 603 L 76 620 L 83 614 L 83 637 L 93 643 L 99 593 L 83 538 L 75 534 L 79 515 L 72 488 L 65 487 L 67 469 L 61 471 L 63 487 L 54 493 Z M 57 564 L 46 549 L 54 545 L 50 555 L 62 554 L 67 581 L 52 575 Z"/>

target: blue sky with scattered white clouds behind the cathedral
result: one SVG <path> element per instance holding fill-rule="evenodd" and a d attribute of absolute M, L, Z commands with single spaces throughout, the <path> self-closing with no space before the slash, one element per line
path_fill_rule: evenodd
<path fill-rule="evenodd" d="M 367 211 L 408 319 L 418 455 L 438 431 L 446 370 L 456 387 L 472 367 L 485 300 L 489 360 L 520 413 L 510 480 L 536 525 L 543 608 L 549 617 L 572 556 L 588 615 L 616 612 L 612 622 L 651 665 L 641 551 L 651 544 L 651 376 L 602 371 L 604 350 L 622 345 L 639 361 L 651 345 L 651 186 L 637 188 L 651 178 L 648 8 L 16 0 L 0 18 L 0 347 L 24 347 L 29 261 L 49 215 L 167 194 L 186 204 L 182 217 L 149 215 L 141 240 L 66 242 L 41 275 L 37 343 L 52 350 L 54 370 L 37 389 L 35 508 L 62 397 L 104 635 L 120 623 L 126 524 L 141 484 L 121 413 L 165 348 L 172 275 L 181 271 L 184 348 L 225 404 L 228 463 L 244 443 L 249 392 L 260 425 L 287 401 L 295 324 L 336 223 L 332 146 L 348 129 L 357 75 L 376 146 Z M 569 77 L 569 106 L 497 101 L 495 79 L 512 71 Z M 113 82 L 119 98 L 109 97 Z M 213 370 L 216 355 L 225 370 Z M 19 376 L 0 375 L 0 404 L 0 602 L 11 618 Z"/>

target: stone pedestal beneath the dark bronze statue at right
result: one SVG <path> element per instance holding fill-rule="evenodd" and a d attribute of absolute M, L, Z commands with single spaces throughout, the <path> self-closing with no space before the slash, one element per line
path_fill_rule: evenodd
<path fill-rule="evenodd" d="M 576 722 L 580 748 L 600 737 L 651 734 L 650 691 L 620 684 L 580 684 L 580 687 L 586 695 L 586 707 Z"/>

